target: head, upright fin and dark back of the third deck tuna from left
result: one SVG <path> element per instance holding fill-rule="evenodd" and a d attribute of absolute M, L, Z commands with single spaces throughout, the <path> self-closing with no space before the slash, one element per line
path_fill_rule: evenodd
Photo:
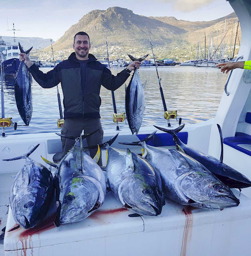
<path fill-rule="evenodd" d="M 165 202 L 152 166 L 135 154 L 132 158 L 132 153 L 127 149 L 126 168 L 131 169 L 131 175 L 118 188 L 120 202 L 137 214 L 159 215 Z"/>

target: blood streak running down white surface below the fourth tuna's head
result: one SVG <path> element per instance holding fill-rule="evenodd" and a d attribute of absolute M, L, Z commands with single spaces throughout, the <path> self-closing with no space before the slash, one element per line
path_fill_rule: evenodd
<path fill-rule="evenodd" d="M 182 247 L 180 256 L 185 256 L 187 253 L 187 242 L 191 241 L 191 232 L 193 227 L 193 214 L 192 210 L 195 209 L 191 206 L 185 206 L 185 208 L 182 210 L 182 212 L 185 213 L 185 228 L 183 233 L 183 240 L 182 240 Z"/>

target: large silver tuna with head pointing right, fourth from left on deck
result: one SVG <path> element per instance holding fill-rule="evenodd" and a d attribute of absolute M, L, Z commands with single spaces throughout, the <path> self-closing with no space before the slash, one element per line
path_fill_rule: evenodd
<path fill-rule="evenodd" d="M 239 200 L 225 184 L 189 156 L 147 145 L 154 134 L 140 142 L 119 143 L 143 146 L 143 157 L 159 171 L 167 198 L 198 208 L 223 209 L 239 205 Z"/>

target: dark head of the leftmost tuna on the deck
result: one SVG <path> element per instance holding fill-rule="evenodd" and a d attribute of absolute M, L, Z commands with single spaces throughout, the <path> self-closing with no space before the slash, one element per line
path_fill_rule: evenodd
<path fill-rule="evenodd" d="M 22 228 L 34 228 L 44 218 L 44 208 L 46 208 L 44 202 L 44 196 L 32 194 L 29 187 L 20 190 L 12 202 L 14 220 Z"/>

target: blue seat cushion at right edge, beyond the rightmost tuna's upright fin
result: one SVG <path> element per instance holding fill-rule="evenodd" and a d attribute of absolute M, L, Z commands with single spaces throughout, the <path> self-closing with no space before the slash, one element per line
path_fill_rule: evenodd
<path fill-rule="evenodd" d="M 223 140 L 223 143 L 251 156 L 251 151 L 238 146 L 238 144 L 251 145 L 251 135 L 245 134 L 243 132 L 236 132 L 235 137 L 227 137 Z"/>

